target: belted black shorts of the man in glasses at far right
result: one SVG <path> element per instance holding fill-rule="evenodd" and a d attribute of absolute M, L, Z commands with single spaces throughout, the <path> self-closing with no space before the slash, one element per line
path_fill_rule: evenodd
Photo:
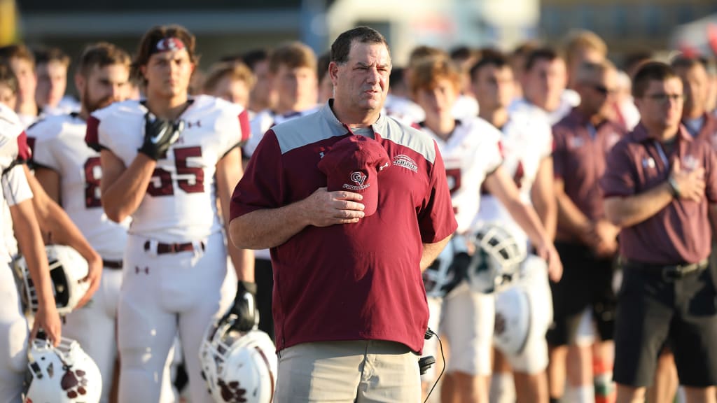
<path fill-rule="evenodd" d="M 659 270 L 659 269 L 657 269 Z M 614 380 L 652 384 L 657 356 L 667 343 L 680 384 L 717 385 L 717 294 L 712 270 L 678 280 L 625 267 L 615 323 Z"/>

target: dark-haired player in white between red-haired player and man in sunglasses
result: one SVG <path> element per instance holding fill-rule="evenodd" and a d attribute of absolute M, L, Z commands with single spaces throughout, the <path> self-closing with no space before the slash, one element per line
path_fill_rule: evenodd
<path fill-rule="evenodd" d="M 500 143 L 503 146 L 503 169 L 513 178 L 519 197 L 525 204 L 532 205 L 541 218 L 550 239 L 556 226 L 556 203 L 553 193 L 552 135 L 547 120 L 524 120 L 511 116 L 508 105 L 515 94 L 516 82 L 508 59 L 500 52 L 484 52 L 480 61 L 471 69 L 473 92 L 481 105 L 480 117 L 500 129 Z M 504 204 L 493 194 L 485 194 L 480 204 L 481 219 L 486 222 L 500 222 L 518 245 L 528 246 L 528 235 L 513 219 Z M 539 270 L 526 266 L 524 270 Z M 534 273 L 526 273 L 534 275 Z M 536 276 L 538 277 L 538 276 Z M 543 276 L 544 278 L 544 276 Z M 536 283 L 531 292 L 541 283 Z M 552 312 L 549 313 L 551 316 Z M 549 323 L 541 323 L 540 326 Z M 544 332 L 543 332 L 544 334 Z M 503 356 L 495 351 L 495 374 L 490 394 L 495 401 L 511 400 L 511 365 L 515 370 L 513 378 L 516 393 L 521 402 L 542 402 L 547 396 L 546 366 L 547 345 L 544 338 L 531 340 L 521 356 Z M 507 360 L 506 360 L 507 359 Z M 513 399 L 515 400 L 515 399 Z"/>

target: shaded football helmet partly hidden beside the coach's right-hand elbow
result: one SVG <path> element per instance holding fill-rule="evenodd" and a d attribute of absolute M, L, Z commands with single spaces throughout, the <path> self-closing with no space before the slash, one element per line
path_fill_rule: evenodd
<path fill-rule="evenodd" d="M 436 260 L 423 272 L 426 295 L 433 298 L 448 295 L 465 278 L 469 263 L 467 240 L 459 234 L 453 235 Z"/>

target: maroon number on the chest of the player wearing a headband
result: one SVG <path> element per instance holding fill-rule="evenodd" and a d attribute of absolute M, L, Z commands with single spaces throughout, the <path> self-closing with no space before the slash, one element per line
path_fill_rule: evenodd
<path fill-rule="evenodd" d="M 204 170 L 199 166 L 188 166 L 187 158 L 201 157 L 201 147 L 174 148 L 174 167 L 177 175 L 194 176 L 194 179 L 178 179 L 177 186 L 186 193 L 204 191 Z M 166 169 L 156 168 L 149 181 L 147 193 L 151 196 L 171 196 L 174 194 L 172 175 Z"/>

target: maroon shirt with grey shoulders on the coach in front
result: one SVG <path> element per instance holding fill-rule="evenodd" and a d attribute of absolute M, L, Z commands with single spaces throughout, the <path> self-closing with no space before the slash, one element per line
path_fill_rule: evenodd
<path fill-rule="evenodd" d="M 426 134 L 383 116 L 372 127 L 390 160 L 377 179 L 376 212 L 356 224 L 305 227 L 270 250 L 278 350 L 371 339 L 423 348 L 422 244 L 457 227 L 445 169 Z M 353 133 L 328 104 L 273 127 L 234 190 L 231 218 L 285 206 L 326 186 L 317 165 L 346 136 Z"/>

